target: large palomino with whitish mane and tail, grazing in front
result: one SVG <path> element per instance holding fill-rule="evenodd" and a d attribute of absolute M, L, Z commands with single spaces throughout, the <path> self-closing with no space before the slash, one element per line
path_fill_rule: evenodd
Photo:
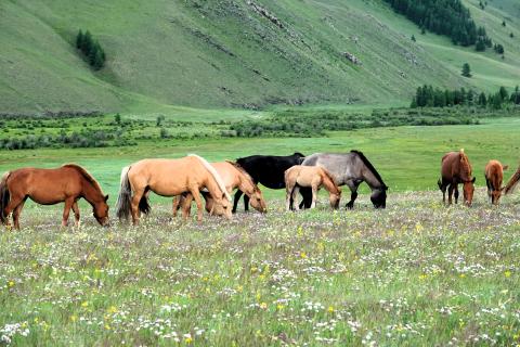
<path fill-rule="evenodd" d="M 205 158 L 191 154 L 180 159 L 143 159 L 122 169 L 116 214 L 119 219 L 128 219 L 131 214 L 133 224 L 138 224 L 141 213 L 146 215 L 150 211 L 150 191 L 161 196 L 190 192 L 197 203 L 200 221 L 203 202 L 199 191 L 203 188 L 231 218 L 231 196 L 219 174 Z"/>

